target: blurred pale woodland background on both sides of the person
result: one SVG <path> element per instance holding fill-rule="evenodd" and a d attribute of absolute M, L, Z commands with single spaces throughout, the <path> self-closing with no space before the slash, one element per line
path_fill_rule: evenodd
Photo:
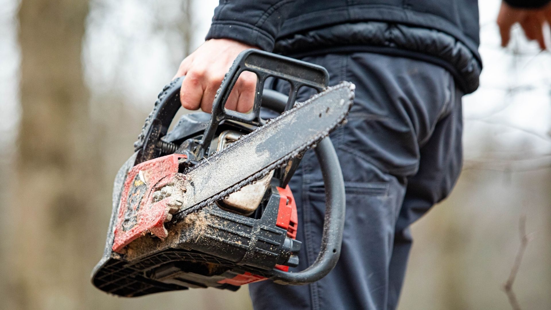
<path fill-rule="evenodd" d="M 249 309 L 246 287 L 136 299 L 96 290 L 111 183 L 157 92 L 203 40 L 217 1 L 0 0 L 0 308 Z M 464 100 L 452 195 L 413 225 L 399 309 L 551 308 L 551 56 L 499 47 L 480 3 L 481 87 Z"/>

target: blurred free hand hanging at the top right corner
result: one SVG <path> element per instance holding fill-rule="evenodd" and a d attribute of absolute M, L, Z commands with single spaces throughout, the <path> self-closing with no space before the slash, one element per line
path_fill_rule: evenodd
<path fill-rule="evenodd" d="M 539 47 L 545 50 L 543 27 L 545 22 L 551 22 L 551 5 L 537 9 L 521 9 L 502 2 L 498 14 L 501 46 L 505 47 L 511 39 L 511 26 L 519 23 L 528 40 L 538 41 Z"/>

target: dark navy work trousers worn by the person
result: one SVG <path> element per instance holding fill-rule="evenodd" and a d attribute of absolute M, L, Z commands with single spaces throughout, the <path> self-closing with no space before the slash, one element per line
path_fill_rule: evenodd
<path fill-rule="evenodd" d="M 267 309 L 392 310 L 398 303 L 412 237 L 409 225 L 444 199 L 461 170 L 461 90 L 444 68 L 409 58 L 358 52 L 308 56 L 331 84 L 356 85 L 348 123 L 331 135 L 346 190 L 341 258 L 323 279 L 303 286 L 250 285 Z M 273 89 L 288 94 L 288 84 Z M 301 89 L 299 100 L 312 92 Z M 290 183 L 299 214 L 300 265 L 320 249 L 323 181 L 309 151 Z"/>

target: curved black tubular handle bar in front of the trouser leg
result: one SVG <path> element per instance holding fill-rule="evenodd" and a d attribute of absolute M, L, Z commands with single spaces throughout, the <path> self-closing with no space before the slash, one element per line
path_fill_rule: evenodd
<path fill-rule="evenodd" d="M 266 89 L 262 100 L 262 104 L 266 108 L 282 113 L 285 110 L 287 96 Z M 305 270 L 285 272 L 273 269 L 274 276 L 271 279 L 277 284 L 302 285 L 320 280 L 329 271 L 333 270 L 341 255 L 346 211 L 341 164 L 329 137 L 317 143 L 314 151 L 317 160 L 320 162 L 323 183 L 325 183 L 325 219 L 323 221 L 320 253 L 314 263 Z"/>

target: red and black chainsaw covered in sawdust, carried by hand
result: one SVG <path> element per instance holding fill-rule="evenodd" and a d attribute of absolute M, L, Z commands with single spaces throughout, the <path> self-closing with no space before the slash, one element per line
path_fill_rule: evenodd
<path fill-rule="evenodd" d="M 243 71 L 256 74 L 250 113 L 225 109 Z M 183 77 L 182 77 L 183 78 Z M 271 279 L 301 285 L 337 263 L 344 227 L 344 181 L 329 132 L 345 122 L 354 85 L 328 87 L 325 68 L 258 50 L 234 61 L 212 113 L 181 116 L 182 78 L 166 85 L 145 120 L 134 154 L 118 171 L 104 255 L 92 282 L 118 296 L 241 285 Z M 290 84 L 288 96 L 264 89 Z M 317 94 L 296 103 L 301 87 Z M 261 107 L 280 114 L 264 120 Z M 299 264 L 298 214 L 288 186 L 314 148 L 326 193 L 322 245 L 314 263 Z"/>

